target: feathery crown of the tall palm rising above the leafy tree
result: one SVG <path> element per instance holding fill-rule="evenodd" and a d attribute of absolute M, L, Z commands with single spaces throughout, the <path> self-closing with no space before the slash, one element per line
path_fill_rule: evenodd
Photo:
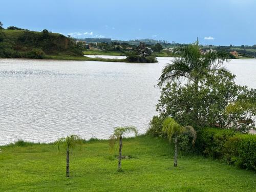
<path fill-rule="evenodd" d="M 160 86 L 168 80 L 174 81 L 180 78 L 187 78 L 198 84 L 201 75 L 209 71 L 227 71 L 222 65 L 225 61 L 229 61 L 228 54 L 215 50 L 202 54 L 198 40 L 191 45 L 181 45 L 174 52 L 176 57 L 172 63 L 163 68 L 158 79 Z"/>

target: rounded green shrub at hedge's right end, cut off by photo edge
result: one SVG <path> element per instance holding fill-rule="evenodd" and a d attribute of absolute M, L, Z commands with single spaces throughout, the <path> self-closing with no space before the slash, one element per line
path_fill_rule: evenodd
<path fill-rule="evenodd" d="M 228 164 L 256 170 L 256 135 L 236 134 L 227 140 L 223 151 Z"/>

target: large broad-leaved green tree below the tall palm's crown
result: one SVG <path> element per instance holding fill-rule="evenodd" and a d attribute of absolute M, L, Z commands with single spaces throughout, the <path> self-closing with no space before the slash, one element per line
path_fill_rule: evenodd
<path fill-rule="evenodd" d="M 238 123 L 246 119 L 246 111 L 232 114 L 226 112 L 230 103 L 236 102 L 242 95 L 247 97 L 247 87 L 238 86 L 234 77 L 229 72 L 212 72 L 200 79 L 198 87 L 191 83 L 168 82 L 162 88 L 156 110 L 161 118 L 171 116 L 183 125 L 233 127 L 247 132 L 253 127 L 253 123 L 243 126 Z M 195 103 L 198 110 L 194 110 Z"/>

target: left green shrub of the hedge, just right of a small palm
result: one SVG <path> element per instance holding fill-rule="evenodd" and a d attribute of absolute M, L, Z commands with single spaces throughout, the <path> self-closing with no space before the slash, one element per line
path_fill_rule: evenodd
<path fill-rule="evenodd" d="M 206 157 L 222 158 L 225 142 L 234 134 L 234 131 L 227 129 L 201 129 L 198 131 L 196 147 Z"/>

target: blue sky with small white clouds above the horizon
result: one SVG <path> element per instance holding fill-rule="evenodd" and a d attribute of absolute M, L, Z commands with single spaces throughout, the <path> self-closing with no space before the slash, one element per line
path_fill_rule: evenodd
<path fill-rule="evenodd" d="M 0 0 L 4 28 L 84 38 L 255 45 L 256 0 Z"/>

